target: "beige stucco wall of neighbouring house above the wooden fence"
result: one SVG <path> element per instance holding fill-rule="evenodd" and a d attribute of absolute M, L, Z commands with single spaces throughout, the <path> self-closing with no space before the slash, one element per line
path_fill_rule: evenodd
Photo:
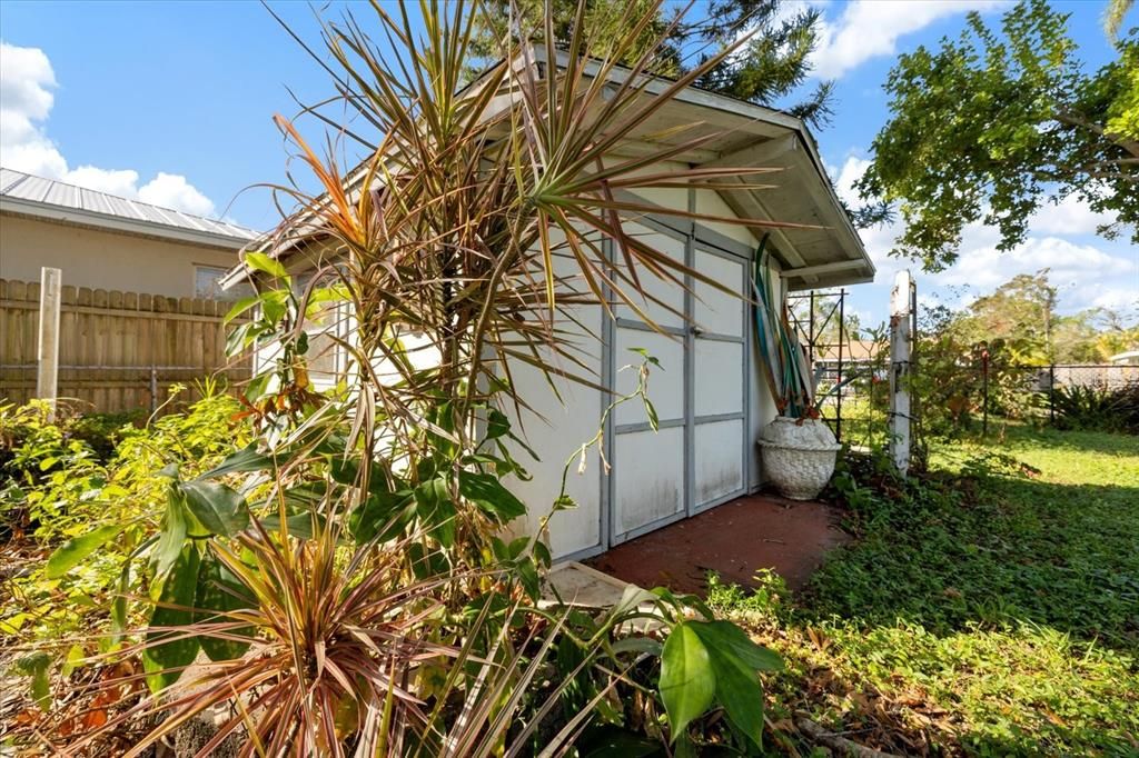
<path fill-rule="evenodd" d="M 194 297 L 195 264 L 236 263 L 236 249 L 0 215 L 0 279 L 39 281 L 40 267 L 54 266 L 63 270 L 64 285 Z"/>

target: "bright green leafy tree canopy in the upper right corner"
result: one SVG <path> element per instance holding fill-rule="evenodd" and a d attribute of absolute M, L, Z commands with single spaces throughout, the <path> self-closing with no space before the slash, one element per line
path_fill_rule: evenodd
<path fill-rule="evenodd" d="M 1072 195 L 1114 219 L 1101 233 L 1130 225 L 1139 244 L 1139 31 L 1088 74 L 1067 19 L 1022 0 L 999 32 L 970 14 L 958 40 L 899 58 L 885 84 L 892 116 L 858 184 L 899 206 L 893 254 L 943 269 L 978 221 L 1008 250 L 1042 205 Z"/>

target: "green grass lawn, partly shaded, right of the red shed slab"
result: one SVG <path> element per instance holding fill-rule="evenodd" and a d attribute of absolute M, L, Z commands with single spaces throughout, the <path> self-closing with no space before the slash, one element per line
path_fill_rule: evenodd
<path fill-rule="evenodd" d="M 777 723 L 903 755 L 1139 755 L 1139 439 L 1002 436 L 937 448 L 892 499 L 847 486 L 860 539 L 801 595 L 713 590 L 788 661 Z"/>

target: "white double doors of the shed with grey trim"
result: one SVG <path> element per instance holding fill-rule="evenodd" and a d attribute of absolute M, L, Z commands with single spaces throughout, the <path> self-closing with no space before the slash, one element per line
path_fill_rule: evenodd
<path fill-rule="evenodd" d="M 687 258 L 734 293 L 746 291 L 743 258 L 686 238 L 646 232 L 645 241 L 658 250 Z M 646 306 L 647 315 L 665 332 L 662 335 L 632 308 L 617 308 L 611 340 L 614 385 L 621 394 L 636 387 L 632 370 L 618 371 L 640 362 L 630 348 L 644 348 L 656 357 L 661 368 L 652 370 L 648 397 L 659 422 L 654 432 L 638 401 L 614 412 L 609 544 L 723 503 L 746 488 L 748 351 L 744 300 L 699 282 L 687 296 L 650 275 L 642 282 L 674 312 L 661 305 Z"/>

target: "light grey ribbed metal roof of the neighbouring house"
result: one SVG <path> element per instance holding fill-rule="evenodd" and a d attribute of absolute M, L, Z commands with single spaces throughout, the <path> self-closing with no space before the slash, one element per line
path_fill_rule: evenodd
<path fill-rule="evenodd" d="M 0 168 L 0 211 L 232 249 L 259 236 L 227 221 L 161 208 L 11 168 Z"/>

